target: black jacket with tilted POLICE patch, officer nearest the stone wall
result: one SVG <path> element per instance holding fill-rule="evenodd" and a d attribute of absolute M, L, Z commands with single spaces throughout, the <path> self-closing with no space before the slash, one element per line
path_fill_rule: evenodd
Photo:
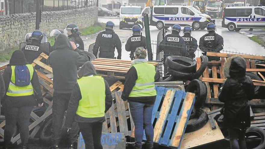
<path fill-rule="evenodd" d="M 31 64 L 42 52 L 49 55 L 48 51 L 50 51 L 50 49 L 45 49 L 41 43 L 33 39 L 31 43 L 27 43 L 27 45 L 22 48 L 22 51 L 27 62 Z"/>

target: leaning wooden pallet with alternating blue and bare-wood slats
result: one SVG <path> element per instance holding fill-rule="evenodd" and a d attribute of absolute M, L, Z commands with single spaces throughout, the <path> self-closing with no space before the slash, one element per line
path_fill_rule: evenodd
<path fill-rule="evenodd" d="M 156 91 L 152 112 L 154 143 L 178 148 L 195 102 L 195 94 L 160 86 L 156 86 Z M 134 133 L 131 137 L 134 137 Z M 145 136 L 143 139 L 146 140 Z"/>

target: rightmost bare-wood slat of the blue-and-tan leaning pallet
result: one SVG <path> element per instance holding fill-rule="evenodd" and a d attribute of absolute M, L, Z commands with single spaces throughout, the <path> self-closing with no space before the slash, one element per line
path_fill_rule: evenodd
<path fill-rule="evenodd" d="M 169 146 L 172 147 L 180 146 L 186 126 L 189 121 L 190 113 L 192 112 L 194 102 L 195 102 L 195 94 L 187 92 Z"/>

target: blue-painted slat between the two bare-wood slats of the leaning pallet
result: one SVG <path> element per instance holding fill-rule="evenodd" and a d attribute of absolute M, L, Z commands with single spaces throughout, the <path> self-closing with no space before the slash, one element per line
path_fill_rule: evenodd
<path fill-rule="evenodd" d="M 172 110 L 170 112 L 169 120 L 167 122 L 167 127 L 165 129 L 163 139 L 161 139 L 159 141 L 159 144 L 167 145 L 169 142 L 169 138 L 170 138 L 170 134 L 172 132 L 173 126 L 174 126 L 174 122 L 176 119 L 178 119 L 176 117 L 177 117 L 177 113 L 179 111 L 179 106 L 180 106 L 183 94 L 184 94 L 183 91 L 177 91 L 175 94 L 175 101 L 174 101 Z"/>

